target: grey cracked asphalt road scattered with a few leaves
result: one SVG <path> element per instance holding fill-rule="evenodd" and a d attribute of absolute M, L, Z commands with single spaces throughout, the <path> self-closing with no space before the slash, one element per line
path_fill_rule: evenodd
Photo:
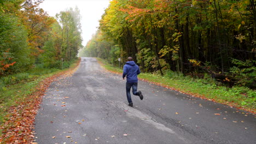
<path fill-rule="evenodd" d="M 127 105 L 125 80 L 82 58 L 73 76 L 45 93 L 37 143 L 255 143 L 256 118 L 212 101 L 139 81 Z M 220 115 L 214 115 L 219 113 Z"/>

